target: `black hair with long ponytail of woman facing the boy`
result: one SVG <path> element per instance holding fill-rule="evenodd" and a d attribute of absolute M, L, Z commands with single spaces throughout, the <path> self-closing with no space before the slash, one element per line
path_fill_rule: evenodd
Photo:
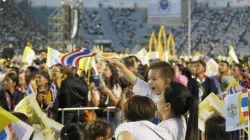
<path fill-rule="evenodd" d="M 166 103 L 171 104 L 175 117 L 186 115 L 189 111 L 185 140 L 198 139 L 198 99 L 192 96 L 184 85 L 171 82 L 164 90 Z"/>

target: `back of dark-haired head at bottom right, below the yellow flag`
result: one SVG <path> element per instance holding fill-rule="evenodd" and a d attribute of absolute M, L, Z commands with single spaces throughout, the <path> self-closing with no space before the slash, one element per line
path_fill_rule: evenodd
<path fill-rule="evenodd" d="M 226 120 L 221 116 L 213 116 L 205 122 L 202 140 L 232 140 L 230 132 L 226 132 Z"/>

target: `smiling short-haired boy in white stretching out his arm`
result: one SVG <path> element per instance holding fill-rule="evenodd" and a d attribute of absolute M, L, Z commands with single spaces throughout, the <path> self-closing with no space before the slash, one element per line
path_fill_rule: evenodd
<path fill-rule="evenodd" d="M 127 69 L 118 60 L 111 60 L 111 63 L 118 67 L 125 78 L 134 85 L 133 92 L 136 95 L 147 96 L 157 103 L 159 95 L 164 88 L 174 81 L 175 71 L 167 62 L 156 62 L 150 65 L 148 72 L 148 83 L 137 78 L 133 72 Z"/>

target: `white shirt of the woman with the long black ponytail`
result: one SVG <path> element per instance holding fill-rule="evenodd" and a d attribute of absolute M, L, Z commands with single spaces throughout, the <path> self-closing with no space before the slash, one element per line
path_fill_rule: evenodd
<path fill-rule="evenodd" d="M 157 126 L 162 127 L 166 130 L 170 130 L 174 136 L 174 140 L 184 140 L 187 130 L 186 120 L 182 116 L 181 118 L 171 118 L 162 121 Z"/>

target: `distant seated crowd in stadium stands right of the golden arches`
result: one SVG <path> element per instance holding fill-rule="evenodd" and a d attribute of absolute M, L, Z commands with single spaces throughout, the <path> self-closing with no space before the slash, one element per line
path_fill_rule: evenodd
<path fill-rule="evenodd" d="M 228 46 L 244 45 L 244 33 L 249 31 L 249 9 L 195 9 L 192 13 L 192 52 L 210 52 L 216 56 L 228 53 Z M 149 28 L 145 37 L 159 27 Z M 166 32 L 173 33 L 179 54 L 186 52 L 188 46 L 187 22 L 181 26 L 166 27 Z M 240 44 L 242 43 L 242 44 Z"/>

